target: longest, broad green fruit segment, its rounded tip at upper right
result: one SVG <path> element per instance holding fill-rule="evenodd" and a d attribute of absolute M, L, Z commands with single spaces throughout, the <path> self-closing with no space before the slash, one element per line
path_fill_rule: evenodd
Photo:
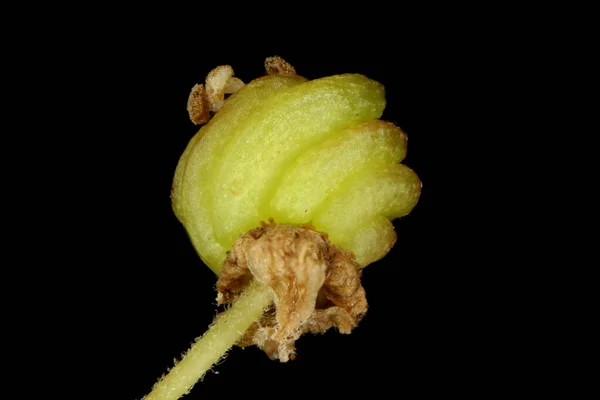
<path fill-rule="evenodd" d="M 268 195 L 303 151 L 341 129 L 379 118 L 384 108 L 383 86 L 358 74 L 305 82 L 265 101 L 221 152 L 212 197 L 220 245 L 231 248 L 271 217 L 264 211 Z"/>

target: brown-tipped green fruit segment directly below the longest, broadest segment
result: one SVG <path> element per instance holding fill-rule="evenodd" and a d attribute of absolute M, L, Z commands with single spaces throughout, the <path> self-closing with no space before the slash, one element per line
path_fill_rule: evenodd
<path fill-rule="evenodd" d="M 373 164 L 395 164 L 406 156 L 406 135 L 380 120 L 347 128 L 298 157 L 284 172 L 270 207 L 279 223 L 307 223 L 342 182 Z"/>

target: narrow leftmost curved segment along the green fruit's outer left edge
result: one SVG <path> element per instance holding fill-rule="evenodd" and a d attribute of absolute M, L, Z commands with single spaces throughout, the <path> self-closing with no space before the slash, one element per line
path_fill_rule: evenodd
<path fill-rule="evenodd" d="M 214 236 L 212 221 L 213 169 L 222 165 L 227 144 L 263 103 L 286 88 L 306 81 L 299 76 L 266 76 L 233 94 L 213 119 L 196 134 L 184 151 L 173 182 L 172 202 L 204 263 L 219 273 L 226 250 Z"/>

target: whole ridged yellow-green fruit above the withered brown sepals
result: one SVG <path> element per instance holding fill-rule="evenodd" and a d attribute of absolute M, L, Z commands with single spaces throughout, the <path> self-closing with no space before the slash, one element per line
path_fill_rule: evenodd
<path fill-rule="evenodd" d="M 384 108 L 383 86 L 358 74 L 274 75 L 233 94 L 173 182 L 173 209 L 202 260 L 218 274 L 234 241 L 271 217 L 312 223 L 361 266 L 383 257 L 396 238 L 390 219 L 421 188 L 398 164 L 406 136 L 378 120 Z"/>

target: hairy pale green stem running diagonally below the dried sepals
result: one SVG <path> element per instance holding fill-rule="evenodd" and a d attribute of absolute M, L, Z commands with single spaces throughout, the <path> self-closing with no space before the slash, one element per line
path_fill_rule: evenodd
<path fill-rule="evenodd" d="M 167 375 L 142 400 L 177 400 L 188 393 L 213 364 L 221 359 L 272 303 L 270 290 L 251 283 L 234 304 L 219 314 Z"/>

